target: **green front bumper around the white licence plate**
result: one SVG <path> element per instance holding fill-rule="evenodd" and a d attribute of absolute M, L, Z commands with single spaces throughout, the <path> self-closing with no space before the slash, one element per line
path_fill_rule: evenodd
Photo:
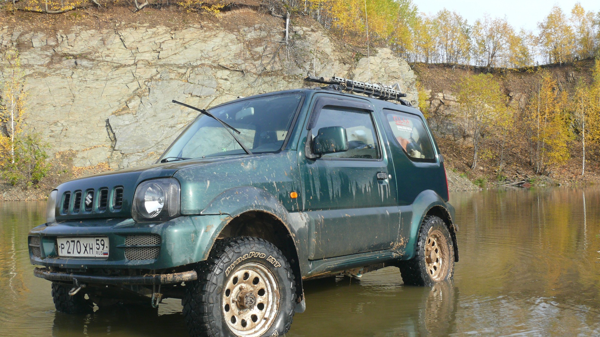
<path fill-rule="evenodd" d="M 29 232 L 29 259 L 31 264 L 56 267 L 61 270 L 87 269 L 168 269 L 206 260 L 216 228 L 226 221 L 227 215 L 179 216 L 170 221 L 135 222 L 133 219 L 95 219 L 61 221 L 43 224 Z M 160 236 L 158 254 L 154 258 L 133 259 L 125 254 L 131 248 L 128 236 Z M 106 258 L 59 257 L 57 237 L 94 237 L 109 239 L 110 254 Z M 37 246 L 32 246 L 33 239 Z M 142 247 L 142 246 L 140 246 Z M 34 254 L 35 252 L 35 254 Z"/>

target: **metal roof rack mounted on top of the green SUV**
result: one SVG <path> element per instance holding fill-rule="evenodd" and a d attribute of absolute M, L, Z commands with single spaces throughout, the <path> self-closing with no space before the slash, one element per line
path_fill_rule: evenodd
<path fill-rule="evenodd" d="M 380 100 L 400 101 L 403 105 L 410 106 L 406 100 L 401 97 L 406 97 L 406 94 L 400 92 L 400 86 L 396 83 L 393 86 L 384 85 L 382 83 L 357 82 L 343 77 L 317 77 L 308 76 L 304 79 L 307 82 L 323 83 L 326 85 L 337 85 L 340 90 L 356 92 L 357 94 L 367 94 L 369 97 L 379 98 Z"/>

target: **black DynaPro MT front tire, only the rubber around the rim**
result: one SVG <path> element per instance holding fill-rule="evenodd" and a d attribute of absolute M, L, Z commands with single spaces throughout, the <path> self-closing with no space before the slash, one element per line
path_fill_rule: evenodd
<path fill-rule="evenodd" d="M 247 257 L 250 252 L 264 255 L 263 258 Z M 281 265 L 275 266 L 267 260 L 268 257 L 275 258 Z M 235 261 L 238 262 L 232 267 Z M 286 257 L 272 243 L 256 237 L 243 236 L 217 240 L 208 259 L 202 261 L 196 269 L 198 279 L 186 284 L 182 305 L 185 323 L 191 336 L 236 336 L 227 325 L 223 314 L 224 287 L 236 272 L 253 263 L 265 266 L 272 273 L 279 292 L 274 323 L 262 336 L 281 335 L 289 330 L 296 306 L 296 285 L 292 268 Z"/>

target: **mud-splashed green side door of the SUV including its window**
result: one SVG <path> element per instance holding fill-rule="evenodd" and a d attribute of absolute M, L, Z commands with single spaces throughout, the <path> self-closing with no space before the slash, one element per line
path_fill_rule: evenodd
<path fill-rule="evenodd" d="M 382 149 L 373 107 L 366 100 L 322 96 L 311 110 L 307 138 L 312 140 L 320 128 L 341 126 L 349 149 L 307 158 L 310 146 L 299 146 L 309 258 L 391 248 L 400 225 L 397 188 L 391 181 L 395 172 Z"/>

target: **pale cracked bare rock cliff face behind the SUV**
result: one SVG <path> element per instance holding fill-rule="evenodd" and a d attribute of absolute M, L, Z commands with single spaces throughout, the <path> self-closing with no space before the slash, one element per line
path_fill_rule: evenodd
<path fill-rule="evenodd" d="M 19 49 L 28 125 L 47 136 L 50 152 L 76 151 L 79 167 L 152 163 L 197 115 L 171 100 L 207 108 L 314 86 L 302 80 L 307 74 L 366 80 L 370 68 L 371 82 L 398 82 L 416 104 L 415 75 L 391 50 L 373 53 L 368 67 L 367 58 L 316 25 L 294 27 L 288 44 L 281 28 L 270 16 L 239 29 L 121 23 L 49 33 L 4 26 L 0 44 Z"/>

